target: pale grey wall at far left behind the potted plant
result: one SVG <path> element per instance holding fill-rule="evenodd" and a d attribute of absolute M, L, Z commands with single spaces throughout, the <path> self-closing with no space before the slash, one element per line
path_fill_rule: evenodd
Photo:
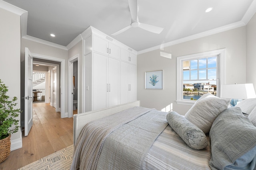
<path fill-rule="evenodd" d="M 0 8 L 0 21 L 0 79 L 8 86 L 10 100 L 18 98 L 20 108 L 20 15 Z M 22 147 L 21 131 L 12 134 L 11 141 L 11 150 Z"/>

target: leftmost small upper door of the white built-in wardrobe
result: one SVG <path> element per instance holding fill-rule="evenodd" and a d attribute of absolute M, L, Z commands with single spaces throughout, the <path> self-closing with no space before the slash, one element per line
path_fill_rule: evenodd
<path fill-rule="evenodd" d="M 93 50 L 108 55 L 108 41 L 94 35 Z"/>

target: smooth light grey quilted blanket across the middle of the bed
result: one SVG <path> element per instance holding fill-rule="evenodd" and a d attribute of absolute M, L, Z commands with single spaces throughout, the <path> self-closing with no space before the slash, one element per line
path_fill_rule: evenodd
<path fill-rule="evenodd" d="M 97 169 L 141 170 L 148 150 L 168 125 L 166 115 L 166 112 L 150 111 L 108 135 Z"/>

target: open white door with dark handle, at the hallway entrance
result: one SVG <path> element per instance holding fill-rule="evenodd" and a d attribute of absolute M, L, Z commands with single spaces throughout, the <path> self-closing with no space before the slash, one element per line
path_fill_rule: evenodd
<path fill-rule="evenodd" d="M 25 48 L 25 136 L 28 136 L 28 133 L 33 125 L 33 112 L 32 112 L 32 81 L 33 81 L 33 57 L 28 48 Z"/>

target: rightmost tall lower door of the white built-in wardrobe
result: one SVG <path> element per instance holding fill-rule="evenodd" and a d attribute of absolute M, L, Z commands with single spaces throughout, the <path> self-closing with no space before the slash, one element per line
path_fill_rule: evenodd
<path fill-rule="evenodd" d="M 137 100 L 137 66 L 129 64 L 129 102 Z"/>

